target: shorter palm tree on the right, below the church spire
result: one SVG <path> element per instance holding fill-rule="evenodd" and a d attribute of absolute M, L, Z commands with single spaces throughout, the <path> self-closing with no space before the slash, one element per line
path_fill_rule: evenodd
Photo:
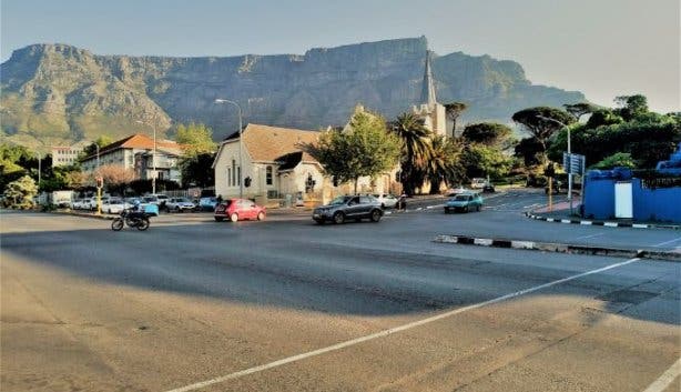
<path fill-rule="evenodd" d="M 460 155 L 463 144 L 454 138 L 436 135 L 426 174 L 430 182 L 430 194 L 437 194 L 443 181 L 447 184 L 460 183 L 466 175 Z"/>

